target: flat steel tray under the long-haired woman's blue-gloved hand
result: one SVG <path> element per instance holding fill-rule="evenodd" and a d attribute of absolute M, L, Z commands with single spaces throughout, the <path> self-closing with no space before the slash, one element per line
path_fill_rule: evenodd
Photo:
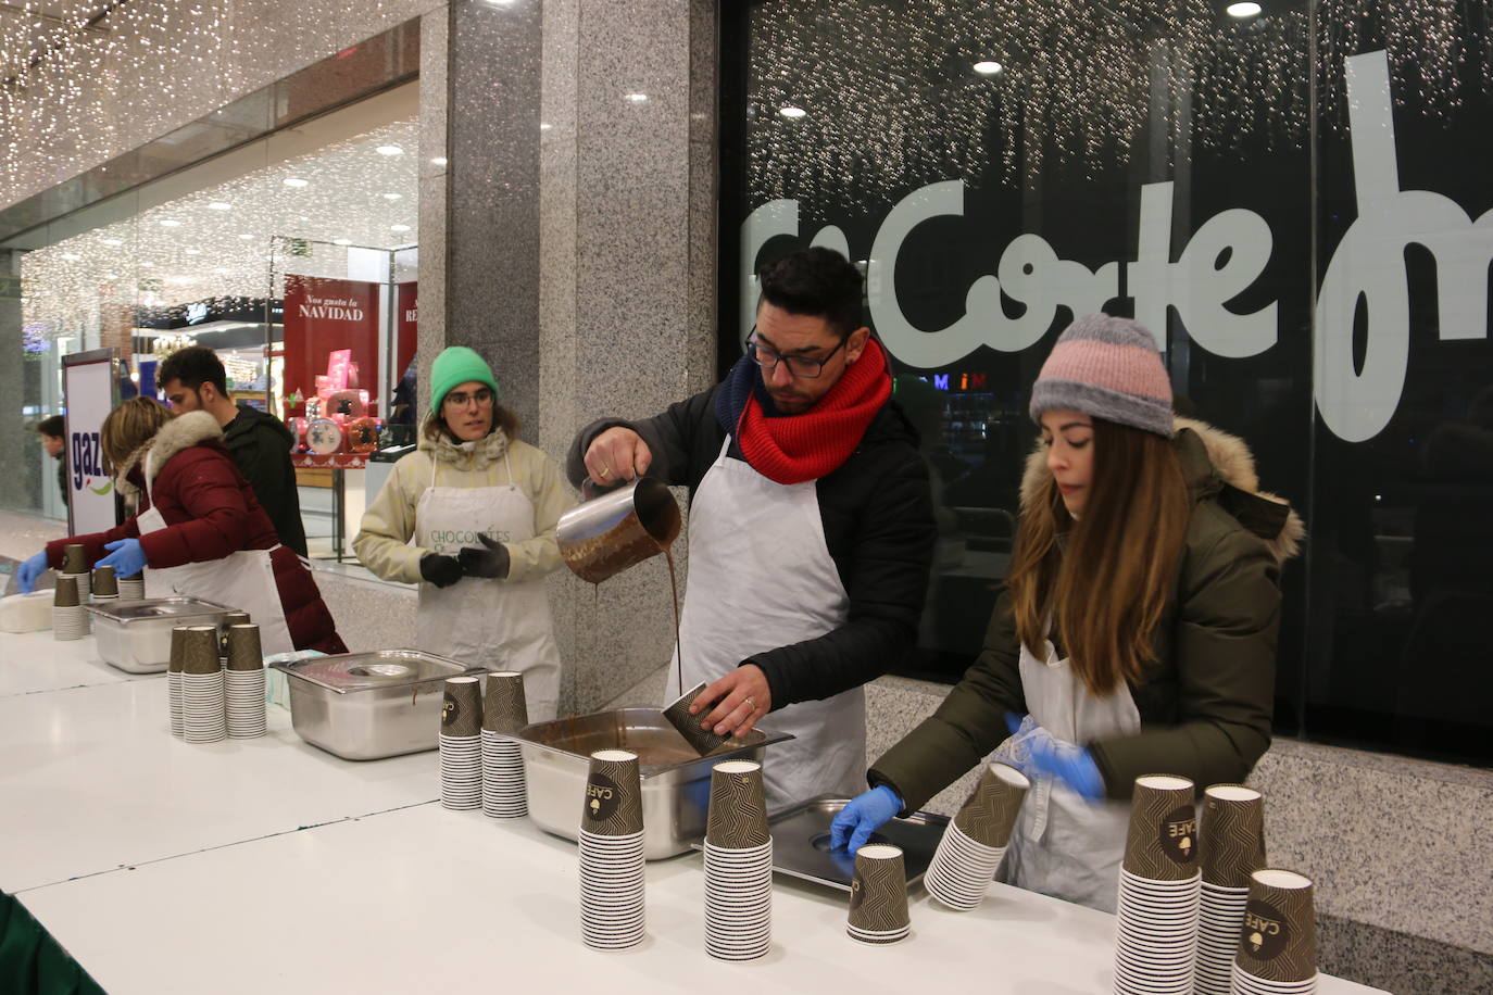
<path fill-rule="evenodd" d="M 817 885 L 850 891 L 855 877 L 855 858 L 844 850 L 830 850 L 830 822 L 848 804 L 848 798 L 823 795 L 775 813 L 767 819 L 772 828 L 772 870 L 800 877 Z M 906 819 L 893 819 L 872 834 L 872 843 L 893 843 L 902 847 L 902 865 L 912 888 L 933 862 L 938 841 L 944 838 L 947 816 L 915 812 Z M 703 850 L 703 843 L 693 844 Z"/>

